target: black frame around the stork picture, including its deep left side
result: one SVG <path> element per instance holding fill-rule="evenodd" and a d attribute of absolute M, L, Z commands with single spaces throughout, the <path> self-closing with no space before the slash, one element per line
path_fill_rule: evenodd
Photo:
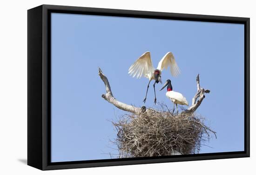
<path fill-rule="evenodd" d="M 51 12 L 244 24 L 244 151 L 51 162 Z M 41 5 L 27 11 L 27 164 L 41 170 L 249 157 L 249 18 Z"/>

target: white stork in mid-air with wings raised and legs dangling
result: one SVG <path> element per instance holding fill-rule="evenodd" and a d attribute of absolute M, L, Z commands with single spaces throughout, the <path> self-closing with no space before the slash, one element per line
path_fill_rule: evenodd
<path fill-rule="evenodd" d="M 157 68 L 155 69 L 153 67 L 150 52 L 145 52 L 142 56 L 140 56 L 129 68 L 128 74 L 132 75 L 133 77 L 136 76 L 136 78 L 141 78 L 141 76 L 145 76 L 149 79 L 148 82 L 148 88 L 150 81 L 155 80 L 155 83 L 161 82 L 161 74 L 163 69 L 167 69 L 168 66 L 170 66 L 171 74 L 173 76 L 177 76 L 180 74 L 180 69 L 175 62 L 175 58 L 172 54 L 172 52 L 168 52 L 165 54 L 165 56 L 162 57 L 161 61 L 158 63 Z M 155 83 L 153 84 L 154 92 L 155 92 Z M 146 97 L 143 100 L 143 102 L 146 102 L 147 94 L 148 94 L 148 88 L 146 92 Z M 155 101 L 156 104 L 156 96 Z"/>

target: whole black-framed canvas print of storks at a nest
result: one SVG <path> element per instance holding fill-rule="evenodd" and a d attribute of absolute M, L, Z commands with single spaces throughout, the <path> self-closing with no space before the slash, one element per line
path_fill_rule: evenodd
<path fill-rule="evenodd" d="M 27 163 L 249 156 L 249 18 L 28 10 Z"/>

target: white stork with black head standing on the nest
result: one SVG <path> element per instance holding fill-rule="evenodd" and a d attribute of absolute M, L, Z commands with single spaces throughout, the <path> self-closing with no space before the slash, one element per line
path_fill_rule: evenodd
<path fill-rule="evenodd" d="M 179 105 L 187 105 L 187 106 L 189 106 L 188 101 L 186 100 L 186 98 L 181 93 L 173 91 L 172 84 L 171 84 L 170 80 L 167 80 L 165 82 L 165 84 L 163 85 L 162 89 L 165 88 L 166 86 L 167 86 L 166 96 L 168 97 L 168 99 L 172 100 L 172 102 L 174 104 L 173 112 L 172 113 L 174 113 L 175 105 L 177 107 L 177 113 L 178 113 L 178 104 Z M 160 91 L 162 89 L 160 89 Z"/>

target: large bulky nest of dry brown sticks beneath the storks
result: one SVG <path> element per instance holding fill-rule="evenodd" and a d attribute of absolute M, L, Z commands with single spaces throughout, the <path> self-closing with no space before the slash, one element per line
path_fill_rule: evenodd
<path fill-rule="evenodd" d="M 199 153 L 211 133 L 204 118 L 195 114 L 177 114 L 152 110 L 127 114 L 112 122 L 117 130 L 115 143 L 120 158 L 169 156 Z M 216 136 L 216 135 L 215 135 Z"/>

